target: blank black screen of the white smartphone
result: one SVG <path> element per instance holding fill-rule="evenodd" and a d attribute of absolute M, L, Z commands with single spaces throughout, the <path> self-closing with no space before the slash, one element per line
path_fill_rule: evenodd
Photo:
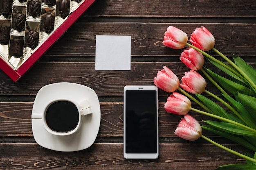
<path fill-rule="evenodd" d="M 126 153 L 157 153 L 157 92 L 126 91 Z"/>

